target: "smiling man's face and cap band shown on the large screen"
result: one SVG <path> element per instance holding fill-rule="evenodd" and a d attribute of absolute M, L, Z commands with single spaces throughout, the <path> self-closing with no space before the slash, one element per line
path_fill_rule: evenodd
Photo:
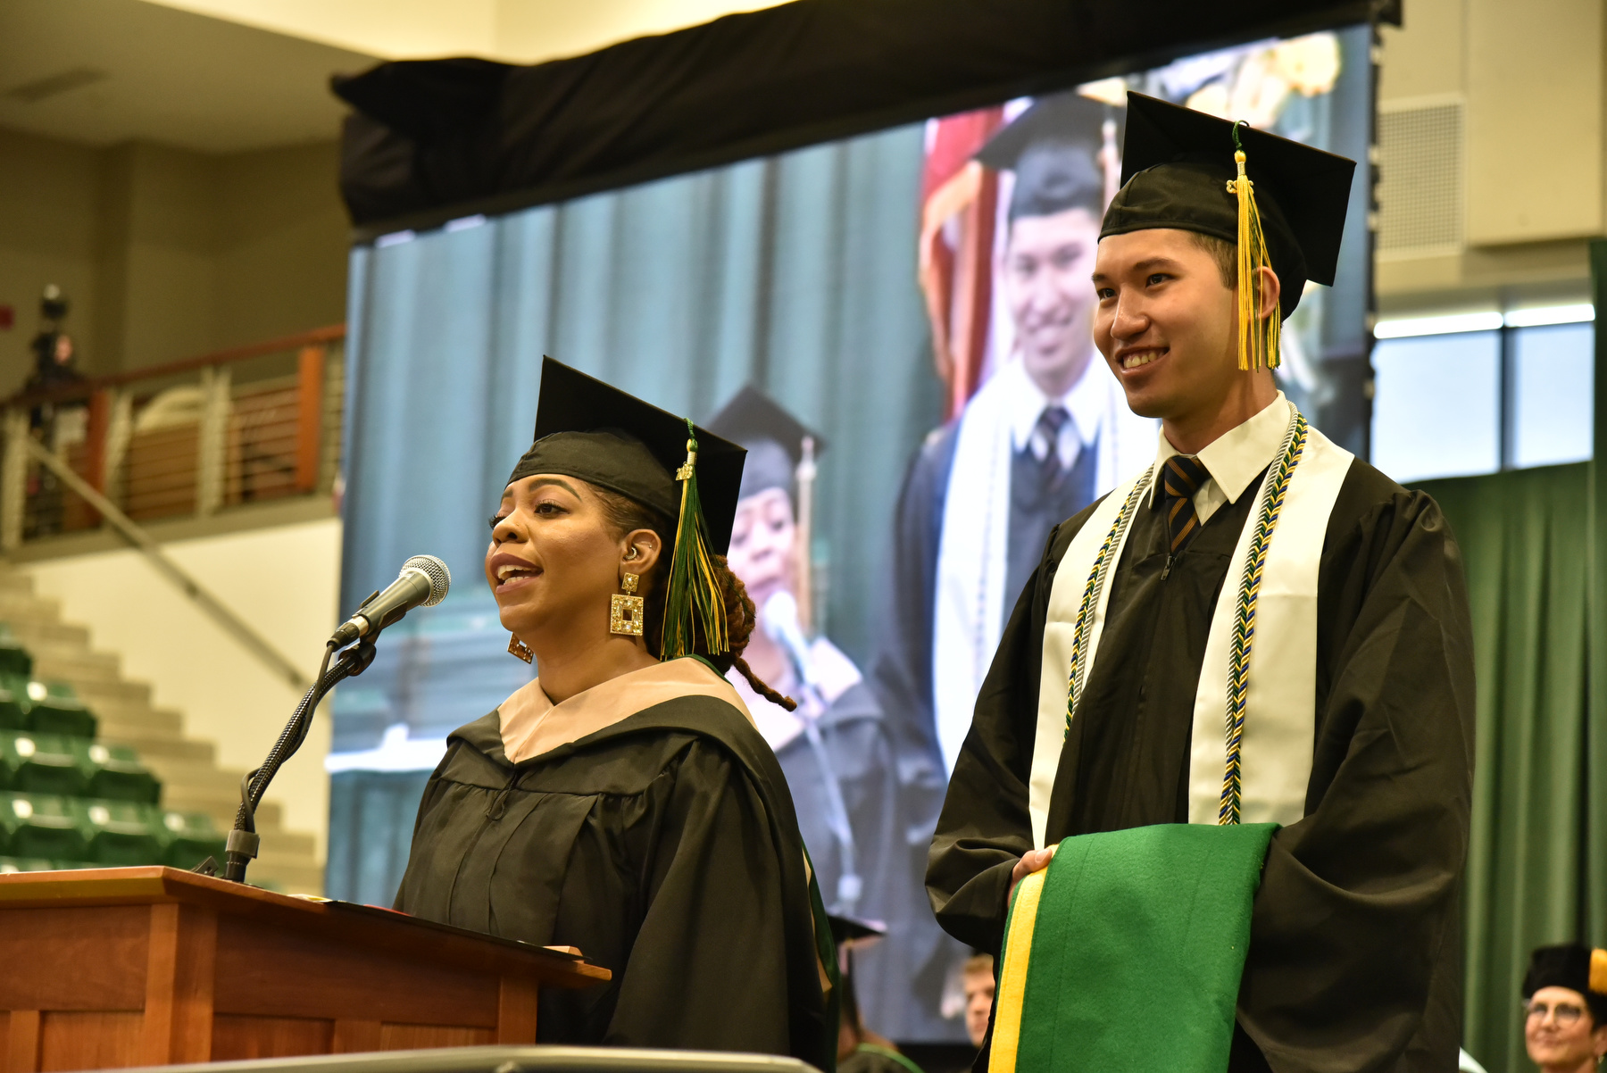
<path fill-rule="evenodd" d="M 1096 138 L 1098 130 L 1090 135 Z M 1091 141 L 1037 140 L 1014 164 L 1009 230 L 996 278 L 1016 350 L 1045 395 L 1065 395 L 1093 360 L 1094 288 L 1104 173 Z"/>

